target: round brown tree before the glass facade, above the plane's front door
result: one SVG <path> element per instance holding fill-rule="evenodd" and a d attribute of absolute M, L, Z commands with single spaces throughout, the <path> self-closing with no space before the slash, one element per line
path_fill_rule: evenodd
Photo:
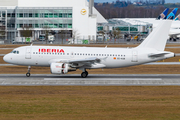
<path fill-rule="evenodd" d="M 26 43 L 27 38 L 32 37 L 32 27 L 30 27 L 29 25 L 24 25 L 20 33 L 23 37 L 25 37 L 25 43 Z"/>

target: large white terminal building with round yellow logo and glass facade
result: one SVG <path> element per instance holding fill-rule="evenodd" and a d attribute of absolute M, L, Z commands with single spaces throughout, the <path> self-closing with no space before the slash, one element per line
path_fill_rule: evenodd
<path fill-rule="evenodd" d="M 21 39 L 29 27 L 34 40 L 44 29 L 69 31 L 79 39 L 96 39 L 98 23 L 106 23 L 87 0 L 0 0 L 0 40 Z"/>

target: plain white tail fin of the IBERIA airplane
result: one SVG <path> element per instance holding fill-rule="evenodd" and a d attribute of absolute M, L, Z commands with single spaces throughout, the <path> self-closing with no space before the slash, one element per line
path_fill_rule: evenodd
<path fill-rule="evenodd" d="M 171 24 L 172 20 L 162 20 L 137 48 L 154 48 L 159 51 L 164 51 Z"/>

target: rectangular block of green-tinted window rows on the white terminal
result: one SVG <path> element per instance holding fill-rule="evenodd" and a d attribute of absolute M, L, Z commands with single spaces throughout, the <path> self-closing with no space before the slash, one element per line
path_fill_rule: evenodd
<path fill-rule="evenodd" d="M 72 28 L 72 8 L 16 9 L 16 26 L 22 28 Z"/>

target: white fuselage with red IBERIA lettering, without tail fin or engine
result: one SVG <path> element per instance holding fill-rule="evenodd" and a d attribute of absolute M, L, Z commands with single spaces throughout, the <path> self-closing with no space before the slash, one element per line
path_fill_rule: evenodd
<path fill-rule="evenodd" d="M 162 57 L 149 57 L 161 52 L 152 48 L 26 46 L 13 51 L 16 53 L 5 55 L 4 61 L 23 66 L 50 66 L 53 62 L 68 63 L 70 60 L 96 57 L 101 59 L 100 63 L 94 63 L 87 68 L 120 68 L 174 57 L 174 53 L 171 52 Z"/>

